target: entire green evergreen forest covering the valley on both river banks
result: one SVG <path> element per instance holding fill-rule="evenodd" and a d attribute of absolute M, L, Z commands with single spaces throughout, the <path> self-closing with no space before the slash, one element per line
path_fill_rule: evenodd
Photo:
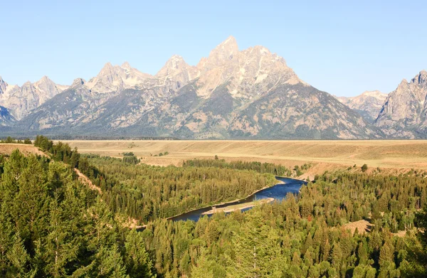
<path fill-rule="evenodd" d="M 148 166 L 46 137 L 36 145 L 46 156 L 0 156 L 0 277 L 427 277 L 427 179 L 416 171 L 325 172 L 280 202 L 174 222 L 295 169 Z M 147 226 L 127 228 L 122 215 Z M 345 228 L 358 220 L 369 230 Z"/>

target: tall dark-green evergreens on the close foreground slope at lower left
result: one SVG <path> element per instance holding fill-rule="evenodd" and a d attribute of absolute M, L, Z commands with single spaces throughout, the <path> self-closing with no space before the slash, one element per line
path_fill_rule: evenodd
<path fill-rule="evenodd" d="M 123 228 L 70 166 L 6 158 L 0 177 L 0 277 L 154 277 L 142 234 Z"/>

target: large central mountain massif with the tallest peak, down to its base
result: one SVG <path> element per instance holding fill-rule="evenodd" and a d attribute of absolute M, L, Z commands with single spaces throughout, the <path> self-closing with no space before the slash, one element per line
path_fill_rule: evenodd
<path fill-rule="evenodd" d="M 359 114 L 300 80 L 283 58 L 263 46 L 239 51 L 233 37 L 196 66 L 174 55 L 156 75 L 107 63 L 88 82 L 75 80 L 33 109 L 18 126 L 188 139 L 377 136 Z"/>

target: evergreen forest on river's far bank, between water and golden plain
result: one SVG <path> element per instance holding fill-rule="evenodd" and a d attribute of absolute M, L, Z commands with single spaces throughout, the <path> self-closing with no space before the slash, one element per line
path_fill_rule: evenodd
<path fill-rule="evenodd" d="M 135 165 L 127 156 L 83 156 L 79 169 L 101 188 L 102 198 L 113 212 L 143 223 L 243 198 L 275 184 L 271 173 L 215 166 Z"/>

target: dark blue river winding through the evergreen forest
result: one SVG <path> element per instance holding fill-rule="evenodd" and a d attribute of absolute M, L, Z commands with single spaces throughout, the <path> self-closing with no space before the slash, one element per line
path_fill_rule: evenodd
<path fill-rule="evenodd" d="M 236 202 L 231 203 L 224 203 L 223 205 L 216 205 L 216 208 L 225 208 L 228 205 L 237 205 L 237 204 L 243 204 L 243 203 L 250 203 L 252 201 L 257 201 L 261 199 L 267 199 L 267 198 L 274 198 L 275 201 L 281 201 L 283 198 L 286 197 L 288 193 L 296 194 L 300 191 L 300 188 L 302 185 L 306 184 L 305 181 L 300 181 L 295 178 L 283 178 L 283 177 L 276 177 L 278 181 L 281 181 L 281 183 L 276 184 L 275 186 L 271 186 L 269 188 L 265 188 L 261 191 L 258 191 L 256 193 L 253 193 L 251 196 L 241 199 Z M 244 208 L 242 211 L 249 210 L 251 208 Z M 180 221 L 180 220 L 194 220 L 197 221 L 199 218 L 204 216 L 203 213 L 206 213 L 207 211 L 212 210 L 212 207 L 206 207 L 206 208 L 199 208 L 197 210 L 191 210 L 188 213 L 184 213 L 181 215 L 177 215 L 173 218 L 169 218 L 173 221 Z"/>

